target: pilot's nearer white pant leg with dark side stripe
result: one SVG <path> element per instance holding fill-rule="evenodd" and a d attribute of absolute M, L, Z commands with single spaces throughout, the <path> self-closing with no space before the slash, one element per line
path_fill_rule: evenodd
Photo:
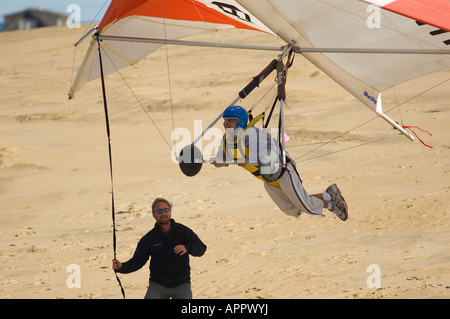
<path fill-rule="evenodd" d="M 292 163 L 287 164 L 286 170 L 280 178 L 280 188 L 297 210 L 323 216 L 323 201 L 308 194 Z"/>

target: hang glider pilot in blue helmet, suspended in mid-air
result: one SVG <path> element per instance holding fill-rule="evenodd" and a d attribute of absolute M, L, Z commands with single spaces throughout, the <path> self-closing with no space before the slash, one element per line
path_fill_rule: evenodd
<path fill-rule="evenodd" d="M 280 147 L 267 129 L 248 124 L 248 112 L 237 105 L 223 113 L 226 133 L 215 157 L 210 163 L 216 167 L 236 162 L 239 166 L 264 181 L 264 188 L 285 214 L 298 217 L 302 212 L 321 215 L 324 208 L 341 220 L 348 217 L 348 208 L 336 184 L 323 193 L 309 195 L 302 184 L 292 157 L 286 152 L 285 167 L 281 165 Z"/>

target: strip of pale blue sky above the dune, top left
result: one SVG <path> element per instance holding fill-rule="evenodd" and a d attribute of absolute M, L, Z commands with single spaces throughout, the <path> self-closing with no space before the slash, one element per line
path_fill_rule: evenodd
<path fill-rule="evenodd" d="M 76 4 L 80 8 L 81 23 L 97 22 L 103 17 L 110 3 L 111 0 L 0 0 L 0 21 L 3 21 L 5 15 L 28 8 L 43 8 L 70 15 L 74 11 L 67 11 L 69 6 Z"/>

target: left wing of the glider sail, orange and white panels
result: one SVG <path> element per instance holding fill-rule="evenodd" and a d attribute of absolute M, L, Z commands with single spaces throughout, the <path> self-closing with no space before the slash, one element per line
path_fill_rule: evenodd
<path fill-rule="evenodd" d="M 97 27 L 108 75 L 155 51 L 163 44 L 203 31 L 226 28 L 271 33 L 235 1 L 113 0 Z M 72 98 L 87 82 L 100 77 L 97 43 L 91 41 L 69 92 Z"/>

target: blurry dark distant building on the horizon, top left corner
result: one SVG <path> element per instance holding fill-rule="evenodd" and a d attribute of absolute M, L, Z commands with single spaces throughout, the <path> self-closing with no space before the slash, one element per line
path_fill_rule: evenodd
<path fill-rule="evenodd" d="M 63 25 L 67 15 L 42 9 L 27 9 L 5 16 L 3 31 L 28 30 L 40 27 Z"/>

